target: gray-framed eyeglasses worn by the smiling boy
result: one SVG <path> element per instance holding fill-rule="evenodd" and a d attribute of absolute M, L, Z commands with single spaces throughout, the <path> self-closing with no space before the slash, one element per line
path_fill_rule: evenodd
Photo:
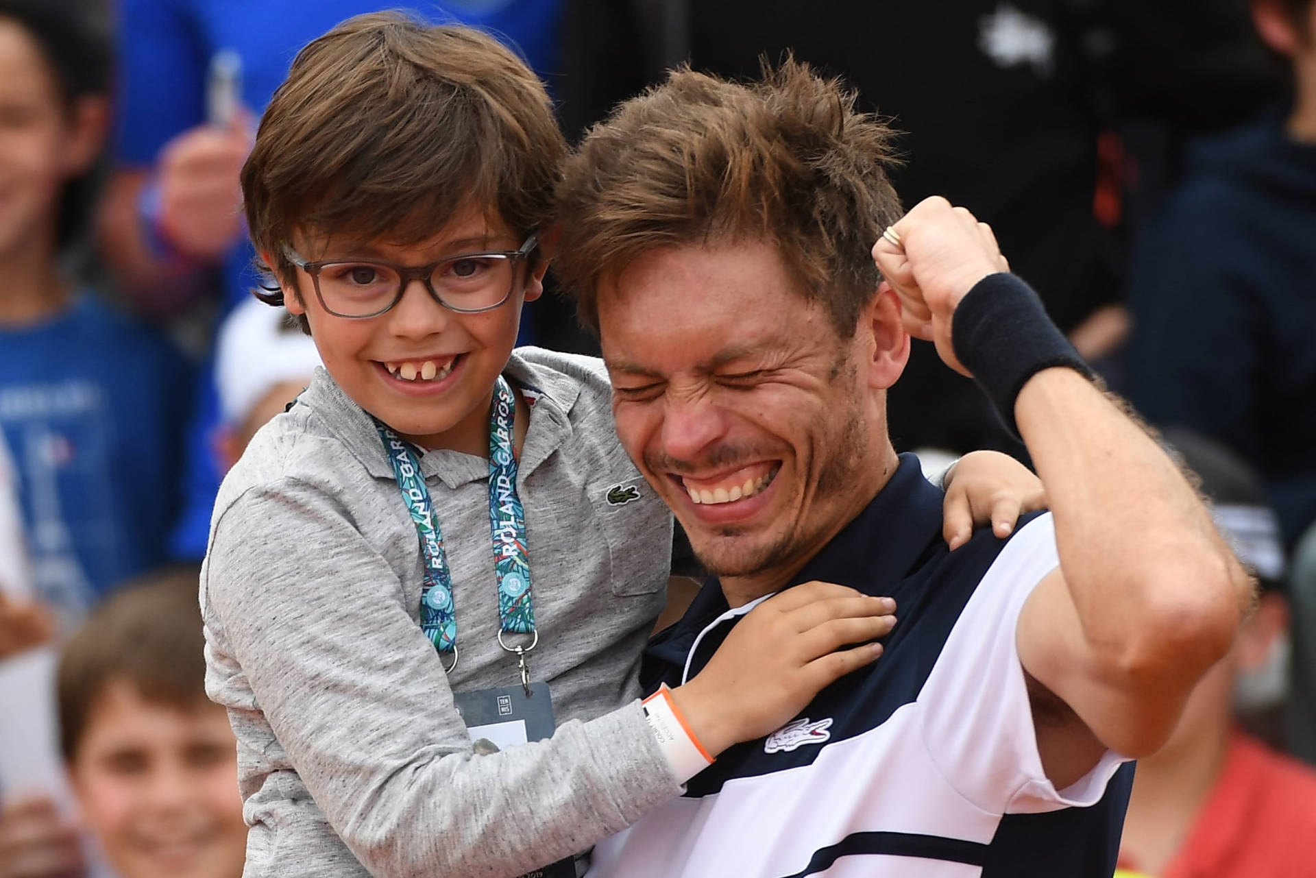
<path fill-rule="evenodd" d="M 311 275 L 316 296 L 336 317 L 378 317 L 399 301 L 407 284 L 420 280 L 434 301 L 461 313 L 492 311 L 516 290 L 517 263 L 534 251 L 534 233 L 516 250 L 462 253 L 425 266 L 365 259 L 309 262 L 283 245 L 283 255 Z"/>

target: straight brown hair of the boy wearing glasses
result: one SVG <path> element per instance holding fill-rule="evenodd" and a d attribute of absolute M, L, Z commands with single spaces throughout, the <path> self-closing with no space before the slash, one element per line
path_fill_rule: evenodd
<path fill-rule="evenodd" d="M 418 244 L 475 205 L 525 237 L 549 221 L 565 154 L 544 83 L 492 37 L 357 16 L 297 53 L 265 111 L 242 167 L 247 228 L 290 286 L 297 230 Z"/>

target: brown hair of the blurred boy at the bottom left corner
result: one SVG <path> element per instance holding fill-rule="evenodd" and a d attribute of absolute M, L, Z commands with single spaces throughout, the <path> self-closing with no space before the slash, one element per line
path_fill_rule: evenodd
<path fill-rule="evenodd" d="M 178 565 L 128 583 L 64 644 L 57 683 L 64 760 L 74 760 L 96 700 L 112 681 L 183 710 L 205 702 L 199 577 L 196 565 Z"/>

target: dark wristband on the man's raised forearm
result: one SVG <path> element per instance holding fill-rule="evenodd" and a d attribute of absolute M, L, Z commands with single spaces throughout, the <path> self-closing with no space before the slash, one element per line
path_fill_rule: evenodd
<path fill-rule="evenodd" d="M 955 357 L 1015 436 L 1019 436 L 1015 398 L 1029 378 L 1051 366 L 1095 378 L 1046 316 L 1042 300 L 1012 274 L 990 274 L 974 284 L 950 320 L 950 338 Z"/>

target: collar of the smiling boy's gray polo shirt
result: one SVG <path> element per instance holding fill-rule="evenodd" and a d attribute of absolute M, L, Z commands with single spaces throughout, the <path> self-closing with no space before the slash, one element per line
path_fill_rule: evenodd
<path fill-rule="evenodd" d="M 517 474 L 524 479 L 571 434 L 570 413 L 580 396 L 580 387 L 570 376 L 528 362 L 517 351 L 512 353 L 503 375 L 521 390 L 530 408 L 530 424 L 517 461 Z M 347 396 L 324 367 L 316 367 L 311 384 L 297 401 L 320 412 L 329 429 L 367 473 L 378 479 L 393 479 L 393 467 L 375 432 L 374 419 Z M 426 478 L 436 477 L 450 490 L 487 479 L 490 473 L 488 458 L 449 449 L 425 450 L 420 457 L 420 469 Z"/>

